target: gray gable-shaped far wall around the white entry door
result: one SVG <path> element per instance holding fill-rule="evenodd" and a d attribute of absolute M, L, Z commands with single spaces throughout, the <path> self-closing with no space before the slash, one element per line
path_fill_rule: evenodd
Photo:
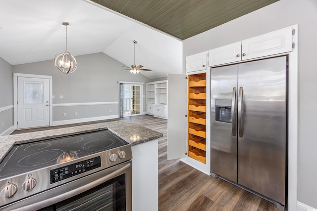
<path fill-rule="evenodd" d="M 122 63 L 105 53 L 76 56 L 77 70 L 63 74 L 53 64 L 53 59 L 12 66 L 13 73 L 53 76 L 53 104 L 118 102 L 118 81 L 147 83 L 151 80 L 142 74 L 120 71 Z M 145 85 L 143 93 L 145 94 Z M 60 99 L 59 96 L 63 95 Z M 111 109 L 111 112 L 109 110 Z M 143 110 L 146 111 L 144 98 Z M 74 113 L 77 112 L 77 116 Z M 66 116 L 63 114 L 66 113 Z M 76 105 L 53 107 L 53 122 L 72 119 L 118 115 L 118 104 Z"/>

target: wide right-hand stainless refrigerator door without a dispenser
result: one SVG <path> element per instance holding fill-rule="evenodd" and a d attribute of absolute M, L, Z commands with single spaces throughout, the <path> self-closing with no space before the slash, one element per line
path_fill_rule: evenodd
<path fill-rule="evenodd" d="M 238 69 L 238 183 L 282 205 L 286 74 L 286 56 L 242 63 Z"/>

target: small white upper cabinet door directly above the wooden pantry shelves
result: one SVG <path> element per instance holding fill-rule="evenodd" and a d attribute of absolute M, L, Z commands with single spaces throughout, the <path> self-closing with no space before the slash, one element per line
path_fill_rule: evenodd
<path fill-rule="evenodd" d="M 186 57 L 186 71 L 194 72 L 207 70 L 207 52 L 198 53 Z"/>

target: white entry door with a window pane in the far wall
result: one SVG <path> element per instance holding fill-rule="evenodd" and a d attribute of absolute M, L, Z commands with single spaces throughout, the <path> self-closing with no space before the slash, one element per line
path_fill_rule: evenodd
<path fill-rule="evenodd" d="M 50 125 L 50 80 L 17 77 L 17 128 Z"/>

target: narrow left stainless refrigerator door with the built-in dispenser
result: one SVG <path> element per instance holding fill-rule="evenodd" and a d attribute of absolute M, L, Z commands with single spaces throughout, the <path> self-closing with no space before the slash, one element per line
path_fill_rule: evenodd
<path fill-rule="evenodd" d="M 237 182 L 237 70 L 238 65 L 211 68 L 211 172 L 233 182 Z"/>

